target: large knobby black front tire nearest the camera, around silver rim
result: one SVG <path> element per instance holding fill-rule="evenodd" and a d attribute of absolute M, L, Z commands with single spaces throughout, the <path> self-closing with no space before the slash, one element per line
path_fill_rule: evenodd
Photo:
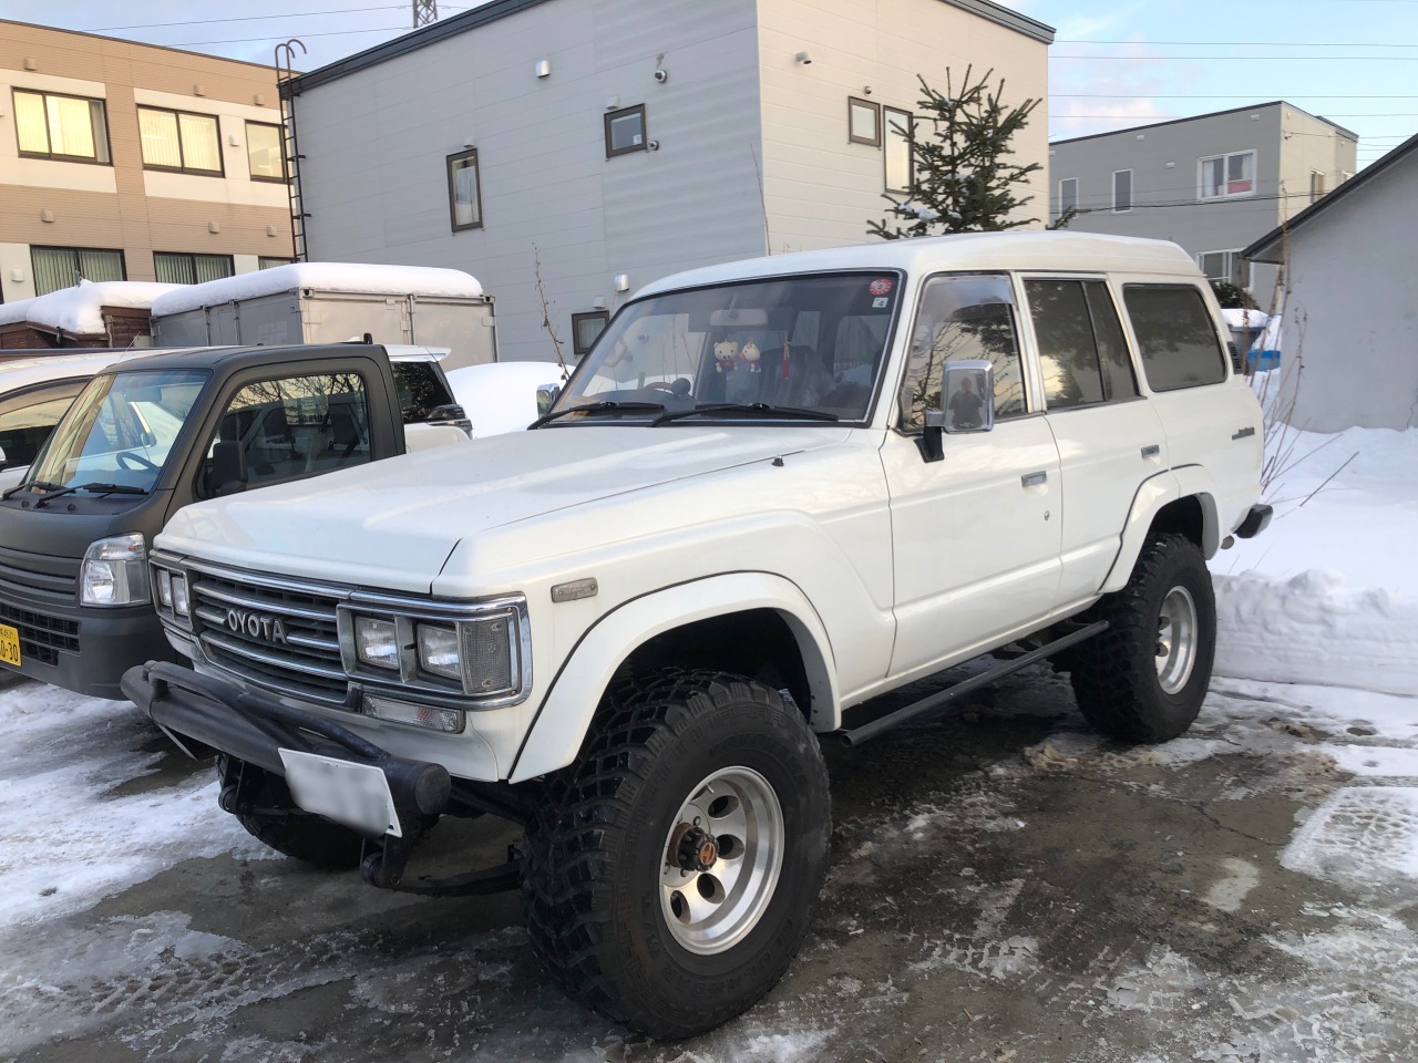
<path fill-rule="evenodd" d="M 756 921 L 702 954 L 669 927 L 674 894 L 661 876 L 682 806 L 723 770 L 771 787 L 783 859 Z M 831 829 L 817 737 L 776 690 L 723 672 L 652 673 L 607 699 L 577 763 L 546 785 L 526 829 L 527 933 L 567 994 L 614 1022 L 661 1039 L 700 1033 L 787 969 L 817 906 Z"/>

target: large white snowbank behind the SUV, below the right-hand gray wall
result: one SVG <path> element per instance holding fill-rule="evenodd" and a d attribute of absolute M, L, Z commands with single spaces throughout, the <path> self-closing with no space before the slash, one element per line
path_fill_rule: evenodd
<path fill-rule="evenodd" d="M 1418 696 L 1418 431 L 1278 446 L 1275 520 L 1211 563 L 1217 675 Z"/>

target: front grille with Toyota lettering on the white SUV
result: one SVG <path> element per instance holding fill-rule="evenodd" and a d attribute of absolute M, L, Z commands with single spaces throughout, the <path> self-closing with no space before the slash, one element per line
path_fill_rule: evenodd
<path fill-rule="evenodd" d="M 191 568 L 189 578 L 193 632 L 211 663 L 285 693 L 345 702 L 335 619 L 345 594 L 206 567 Z"/>

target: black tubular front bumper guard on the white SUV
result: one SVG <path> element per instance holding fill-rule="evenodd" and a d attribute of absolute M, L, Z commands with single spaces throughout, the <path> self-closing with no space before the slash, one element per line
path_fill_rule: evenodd
<path fill-rule="evenodd" d="M 404 869 L 425 823 L 448 809 L 452 780 L 447 768 L 396 757 L 363 736 L 308 709 L 248 693 L 191 669 L 149 660 L 123 673 L 123 693 L 189 757 L 227 754 L 285 777 L 281 750 L 372 764 L 384 772 L 403 838 L 366 839 L 360 874 L 380 889 L 425 896 L 471 896 L 515 889 L 520 862 L 508 862 L 441 880 L 403 882 Z M 241 814 L 240 784 L 223 794 L 223 808 Z"/>

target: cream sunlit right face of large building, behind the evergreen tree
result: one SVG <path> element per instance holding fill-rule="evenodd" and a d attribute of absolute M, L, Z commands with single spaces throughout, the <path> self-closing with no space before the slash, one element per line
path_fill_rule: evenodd
<path fill-rule="evenodd" d="M 973 7 L 991 9 L 981 17 Z M 949 71 L 994 69 L 1004 102 L 1038 99 L 1015 137 L 1020 164 L 1048 162 L 1048 41 L 1052 30 L 997 9 L 951 0 L 759 0 L 763 82 L 763 181 L 774 254 L 875 240 L 868 218 L 886 218 L 883 149 L 848 139 L 848 99 L 919 112 L 919 74 L 946 91 Z M 810 64 L 797 57 L 807 52 Z M 1048 174 L 1029 183 L 1020 214 L 1048 220 Z"/>

